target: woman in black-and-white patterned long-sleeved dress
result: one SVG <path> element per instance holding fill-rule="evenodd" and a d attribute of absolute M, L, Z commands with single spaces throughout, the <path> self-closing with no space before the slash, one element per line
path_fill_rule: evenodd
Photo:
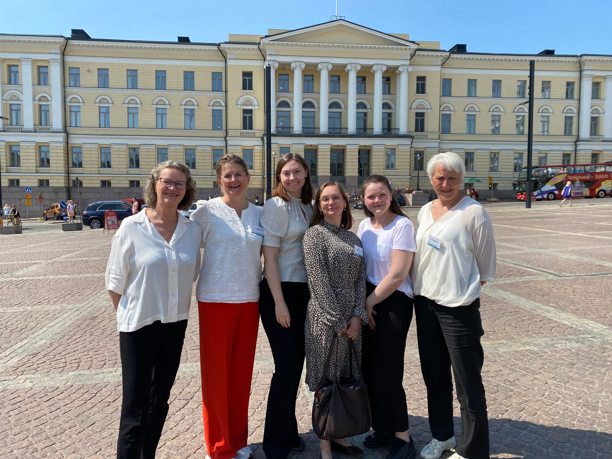
<path fill-rule="evenodd" d="M 315 392 L 323 378 L 350 377 L 353 354 L 361 348 L 361 324 L 366 323 L 364 250 L 353 226 L 351 206 L 336 182 L 321 185 L 315 198 L 310 228 L 304 234 L 302 253 L 310 300 L 305 323 L 306 383 Z M 338 336 L 335 370 L 324 374 L 327 356 Z M 354 358 L 360 360 L 359 354 Z M 353 370 L 353 374 L 354 374 Z M 350 457 L 364 452 L 346 438 L 319 440 L 321 459 L 332 459 L 332 449 Z"/>

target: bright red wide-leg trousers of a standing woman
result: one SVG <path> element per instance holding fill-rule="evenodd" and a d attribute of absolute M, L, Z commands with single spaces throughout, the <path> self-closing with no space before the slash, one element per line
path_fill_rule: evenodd
<path fill-rule="evenodd" d="M 259 304 L 198 301 L 204 441 L 212 459 L 247 446 Z"/>

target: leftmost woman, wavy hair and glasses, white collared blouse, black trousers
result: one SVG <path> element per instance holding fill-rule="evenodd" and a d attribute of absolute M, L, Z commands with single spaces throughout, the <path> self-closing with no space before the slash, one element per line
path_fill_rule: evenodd
<path fill-rule="evenodd" d="M 105 284 L 121 351 L 118 459 L 154 458 L 168 415 L 202 238 L 200 226 L 177 211 L 195 196 L 187 166 L 159 163 L 144 188 L 146 212 L 125 218 L 113 237 Z"/>

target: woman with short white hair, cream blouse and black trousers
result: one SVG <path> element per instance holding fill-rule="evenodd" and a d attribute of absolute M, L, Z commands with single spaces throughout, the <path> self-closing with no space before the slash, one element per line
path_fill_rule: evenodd
<path fill-rule="evenodd" d="M 433 439 L 421 457 L 488 459 L 487 401 L 482 384 L 480 288 L 495 277 L 493 225 L 480 203 L 461 193 L 463 159 L 435 155 L 427 174 L 438 195 L 419 212 L 412 282 L 421 371 Z M 453 431 L 452 367 L 461 405 L 461 441 Z"/>

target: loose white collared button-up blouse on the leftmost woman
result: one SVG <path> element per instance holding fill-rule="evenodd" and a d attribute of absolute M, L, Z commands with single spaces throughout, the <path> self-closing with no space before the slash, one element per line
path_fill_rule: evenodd
<path fill-rule="evenodd" d="M 121 295 L 119 332 L 188 318 L 193 282 L 200 272 L 202 230 L 187 217 L 178 218 L 170 242 L 146 212 L 126 217 L 114 234 L 105 285 Z"/>

